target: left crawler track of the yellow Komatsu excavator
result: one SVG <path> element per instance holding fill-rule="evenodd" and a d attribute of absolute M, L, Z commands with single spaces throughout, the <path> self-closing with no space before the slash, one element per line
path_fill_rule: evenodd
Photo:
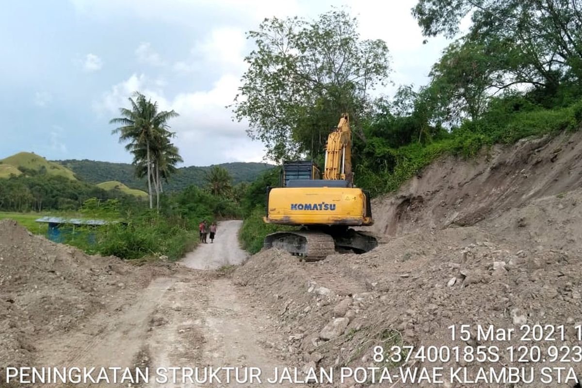
<path fill-rule="evenodd" d="M 276 232 L 265 237 L 265 248 L 278 248 L 305 261 L 320 261 L 335 253 L 333 237 L 315 230 Z"/>

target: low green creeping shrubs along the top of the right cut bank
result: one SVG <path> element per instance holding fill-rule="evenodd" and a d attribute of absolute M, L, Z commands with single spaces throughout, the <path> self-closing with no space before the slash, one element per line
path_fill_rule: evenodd
<path fill-rule="evenodd" d="M 523 104 L 527 100 L 521 100 Z M 394 146 L 390 138 L 398 130 L 395 122 L 377 116 L 365 127 L 366 144 L 358 143 L 356 156 L 356 183 L 377 195 L 397 190 L 402 183 L 416 175 L 425 166 L 443 155 L 470 157 L 482 147 L 495 143 L 512 144 L 528 136 L 556 134 L 562 130 L 577 130 L 582 124 L 582 102 L 566 108 L 545 109 L 531 106 L 527 110 L 512 111 L 517 102 L 499 99 L 491 104 L 482 118 L 469 121 L 452 131 L 434 130 L 431 141 L 412 142 Z M 521 105 L 517 105 L 521 106 Z M 380 134 L 384 134 L 381 136 Z"/>

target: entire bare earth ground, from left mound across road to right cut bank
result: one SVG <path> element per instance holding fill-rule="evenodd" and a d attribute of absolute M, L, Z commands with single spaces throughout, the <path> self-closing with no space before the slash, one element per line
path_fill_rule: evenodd
<path fill-rule="evenodd" d="M 372 383 L 360 375 L 309 385 L 579 386 L 581 136 L 495 147 L 475 161 L 438 161 L 374 201 L 373 229 L 385 234 L 378 248 L 320 262 L 277 250 L 245 261 L 236 221 L 219 225 L 215 244 L 182 265 L 141 267 L 0 222 L 0 366 L 296 367 L 299 379 L 312 368 L 437 366 L 446 368 L 441 384 L 398 375 Z M 460 325 L 469 325 L 469 336 Z M 524 325 L 541 325 L 542 338 L 522 340 L 534 335 Z M 499 329 L 495 340 L 484 334 L 489 326 Z M 466 357 L 492 346 L 497 358 Z M 399 348 L 411 348 L 410 357 L 396 359 Z M 431 362 L 422 351 L 429 348 L 457 349 L 460 357 L 440 354 Z M 535 352 L 544 361 L 535 361 Z M 470 382 L 480 368 L 513 367 L 533 368 L 534 382 Z M 542 382 L 541 369 L 554 367 L 565 368 L 562 381 L 552 369 L 552 382 Z M 469 376 L 450 382 L 449 368 Z M 565 379 L 569 368 L 574 378 Z"/>

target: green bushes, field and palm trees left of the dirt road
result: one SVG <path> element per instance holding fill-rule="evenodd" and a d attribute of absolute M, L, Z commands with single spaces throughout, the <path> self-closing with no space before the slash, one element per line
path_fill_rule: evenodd
<path fill-rule="evenodd" d="M 46 225 L 35 222 L 42 215 L 68 213 L 70 218 L 76 212 L 75 218 L 112 221 L 104 226 L 76 227 L 74 232 L 63 233 L 62 237 L 66 244 L 90 254 L 134 260 L 162 256 L 177 260 L 198 243 L 201 220 L 240 218 L 240 201 L 247 186 L 233 186 L 232 176 L 221 167 L 205 174 L 207 190 L 191 184 L 180 191 L 162 193 L 162 180 L 168 179 L 176 171 L 175 163 L 181 161 L 178 149 L 169 142 L 173 134 L 166 124 L 175 113 L 158 112 L 155 102 L 139 93 L 136 96 L 136 101 L 130 99 L 133 110 L 122 108 L 123 117 L 112 122 L 124 124 L 114 132 L 120 133 L 121 140 L 129 141 L 126 148 L 134 156 L 135 175 L 148 177 L 149 194 L 119 181 L 94 185 L 71 180 L 49 174 L 42 165 L 36 169 L 36 165 L 28 163 L 28 167 L 20 166 L 21 175 L 4 179 L 0 186 L 0 210 L 22 213 L 4 212 L 0 218 L 15 219 L 34 233 L 47 230 Z M 34 161 L 45 159 L 38 157 Z M 154 192 L 155 211 L 152 209 Z M 146 203 L 144 197 L 150 201 Z"/>

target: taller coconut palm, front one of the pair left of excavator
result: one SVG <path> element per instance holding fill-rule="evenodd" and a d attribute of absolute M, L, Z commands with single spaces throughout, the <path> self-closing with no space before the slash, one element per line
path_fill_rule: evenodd
<path fill-rule="evenodd" d="M 111 124 L 122 124 L 114 129 L 112 133 L 119 133 L 119 141 L 129 141 L 126 145 L 127 151 L 134 151 L 140 148 L 145 149 L 145 159 L 137 163 L 145 162 L 147 169 L 148 197 L 150 209 L 152 203 L 152 171 L 151 171 L 151 147 L 155 143 L 161 143 L 161 139 L 169 136 L 168 120 L 178 116 L 174 111 L 158 112 L 158 103 L 146 99 L 140 92 L 134 93 L 134 98 L 129 98 L 132 109 L 119 108 L 120 118 L 111 119 Z"/>

